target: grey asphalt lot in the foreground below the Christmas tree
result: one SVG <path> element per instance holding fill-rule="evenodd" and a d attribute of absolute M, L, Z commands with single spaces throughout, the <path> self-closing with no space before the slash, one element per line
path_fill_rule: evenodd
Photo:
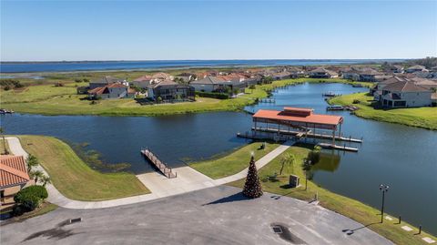
<path fill-rule="evenodd" d="M 283 238 L 271 224 L 283 226 Z M 224 186 L 109 209 L 59 208 L 0 232 L 1 244 L 391 244 L 319 206 L 270 194 L 245 199 Z"/>

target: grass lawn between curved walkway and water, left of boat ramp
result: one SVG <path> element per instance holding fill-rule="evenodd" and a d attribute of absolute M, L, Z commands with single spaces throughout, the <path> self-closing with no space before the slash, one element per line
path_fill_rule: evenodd
<path fill-rule="evenodd" d="M 35 155 L 55 185 L 69 199 L 119 199 L 150 191 L 130 173 L 100 173 L 89 168 L 57 138 L 19 136 L 25 151 Z"/>

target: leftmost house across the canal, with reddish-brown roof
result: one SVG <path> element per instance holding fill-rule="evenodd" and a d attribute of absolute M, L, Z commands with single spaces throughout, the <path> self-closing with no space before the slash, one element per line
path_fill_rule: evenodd
<path fill-rule="evenodd" d="M 104 87 L 96 87 L 88 91 L 89 99 L 127 98 L 134 96 L 135 90 L 119 83 L 113 83 Z"/>

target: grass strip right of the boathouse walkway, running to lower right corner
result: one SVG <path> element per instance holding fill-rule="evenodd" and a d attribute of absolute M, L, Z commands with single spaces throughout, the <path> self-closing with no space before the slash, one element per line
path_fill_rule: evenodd
<path fill-rule="evenodd" d="M 264 168 L 260 168 L 259 179 L 261 179 L 263 190 L 302 200 L 313 199 L 314 195 L 317 193 L 322 207 L 354 219 L 363 225 L 369 225 L 369 229 L 374 230 L 381 234 L 381 236 L 392 240 L 396 244 L 425 244 L 422 240 L 423 237 L 430 237 L 433 240 L 436 240 L 434 236 L 424 231 L 422 231 L 421 235 L 414 235 L 418 232 L 418 229 L 403 221 L 401 222 L 401 225 L 399 225 L 397 224 L 396 219 L 385 219 L 384 223 L 381 224 L 381 216 L 378 215 L 381 213 L 380 210 L 373 209 L 360 201 L 340 196 L 339 194 L 330 192 L 327 189 L 322 189 L 311 181 L 308 182 L 308 190 L 304 190 L 305 177 L 300 164 L 303 158 L 307 156 L 309 150 L 309 148 L 305 148 L 304 146 L 293 146 L 285 151 L 284 153 L 290 153 L 295 156 L 296 163 L 293 166 L 286 166 L 283 175 L 277 178 L 278 181 L 267 180 L 267 178 L 268 176 L 273 176 L 274 173 L 279 173 L 281 167 L 280 156 L 273 159 L 268 165 L 264 166 Z M 288 188 L 290 174 L 298 175 L 300 177 L 300 188 Z M 229 183 L 229 185 L 242 188 L 244 186 L 244 180 L 245 179 L 240 179 Z M 401 226 L 404 225 L 412 227 L 413 231 L 407 232 L 402 230 Z"/>

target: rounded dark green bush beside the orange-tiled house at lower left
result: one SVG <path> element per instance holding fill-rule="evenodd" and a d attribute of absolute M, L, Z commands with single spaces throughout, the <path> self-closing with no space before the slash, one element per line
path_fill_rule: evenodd
<path fill-rule="evenodd" d="M 21 204 L 23 208 L 31 211 L 36 209 L 47 197 L 48 193 L 45 187 L 31 186 L 18 191 L 14 200 L 16 203 Z"/>

